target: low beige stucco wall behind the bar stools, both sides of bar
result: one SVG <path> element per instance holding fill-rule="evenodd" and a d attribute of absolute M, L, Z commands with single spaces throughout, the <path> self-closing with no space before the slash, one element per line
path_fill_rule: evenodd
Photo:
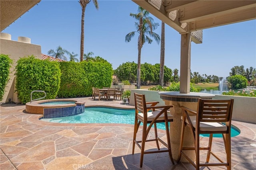
<path fill-rule="evenodd" d="M 131 91 L 131 97 L 129 102 L 129 104 L 132 106 L 135 105 L 134 92 L 139 94 L 145 94 L 146 102 L 157 101 L 159 102 L 158 105 L 165 105 L 164 101 L 160 98 L 160 95 L 158 94 L 159 91 L 133 89 Z M 234 99 L 232 120 L 256 124 L 256 98 L 243 96 L 215 95 L 213 99 Z"/>

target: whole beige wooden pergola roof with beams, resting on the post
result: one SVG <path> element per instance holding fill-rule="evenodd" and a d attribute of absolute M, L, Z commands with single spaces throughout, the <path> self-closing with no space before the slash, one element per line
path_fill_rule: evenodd
<path fill-rule="evenodd" d="M 256 19 L 256 0 L 132 0 L 180 34 Z"/>

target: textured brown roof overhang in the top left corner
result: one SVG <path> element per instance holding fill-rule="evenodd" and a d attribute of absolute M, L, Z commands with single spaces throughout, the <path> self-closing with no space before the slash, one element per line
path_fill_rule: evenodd
<path fill-rule="evenodd" d="M 41 0 L 1 0 L 0 1 L 0 31 L 17 20 Z"/>

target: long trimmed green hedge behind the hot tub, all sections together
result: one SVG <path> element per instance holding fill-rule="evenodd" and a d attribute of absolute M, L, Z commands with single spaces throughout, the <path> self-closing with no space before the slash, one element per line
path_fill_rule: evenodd
<path fill-rule="evenodd" d="M 112 65 L 103 60 L 58 63 L 30 56 L 18 60 L 16 88 L 22 103 L 30 101 L 33 90 L 44 90 L 46 99 L 91 96 L 92 87 L 110 87 L 112 74 Z M 42 96 L 34 93 L 33 99 Z"/>

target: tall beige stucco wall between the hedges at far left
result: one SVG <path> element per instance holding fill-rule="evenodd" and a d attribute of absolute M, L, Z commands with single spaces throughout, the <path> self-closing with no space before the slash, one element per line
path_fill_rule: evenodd
<path fill-rule="evenodd" d="M 10 80 L 5 88 L 6 92 L 4 93 L 3 100 L 0 102 L 8 102 L 8 99 L 11 99 L 11 101 L 19 103 L 18 98 L 14 96 L 14 68 L 16 66 L 16 62 L 20 57 L 28 55 L 34 55 L 38 59 L 41 59 L 41 46 L 19 41 L 12 41 L 10 39 L 3 39 L 2 36 L 0 38 L 0 44 L 0 54 L 9 55 L 9 57 L 13 60 Z"/>

